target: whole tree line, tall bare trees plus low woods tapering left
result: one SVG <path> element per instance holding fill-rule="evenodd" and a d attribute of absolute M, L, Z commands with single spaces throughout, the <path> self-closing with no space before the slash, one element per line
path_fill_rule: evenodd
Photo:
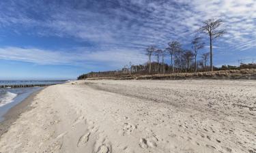
<path fill-rule="evenodd" d="M 215 39 L 223 36 L 226 33 L 225 29 L 221 29 L 221 24 L 223 24 L 223 20 L 221 19 L 205 20 L 191 40 L 190 50 L 184 50 L 182 48 L 182 44 L 176 40 L 170 41 L 167 44 L 167 47 L 164 49 L 149 46 L 145 49 L 145 55 L 147 55 L 148 61 L 143 65 L 132 65 L 132 63 L 130 63 L 130 65 L 124 66 L 121 70 L 91 72 L 79 76 L 79 79 L 156 73 L 197 73 L 197 71 L 214 71 L 220 69 L 238 68 L 230 65 L 217 68 L 213 65 L 213 42 Z M 204 33 L 205 36 L 208 37 L 210 43 L 209 52 L 203 54 L 199 54 L 200 50 L 205 48 L 203 37 L 199 37 L 200 33 Z M 170 65 L 165 63 L 165 58 L 167 58 L 167 56 L 169 56 Z M 155 57 L 156 61 L 152 62 L 152 57 Z"/>

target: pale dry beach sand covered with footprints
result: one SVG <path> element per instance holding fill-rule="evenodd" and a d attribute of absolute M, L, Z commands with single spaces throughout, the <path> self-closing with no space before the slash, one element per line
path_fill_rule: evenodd
<path fill-rule="evenodd" d="M 0 152 L 256 152 L 256 82 L 95 80 L 49 86 Z"/>

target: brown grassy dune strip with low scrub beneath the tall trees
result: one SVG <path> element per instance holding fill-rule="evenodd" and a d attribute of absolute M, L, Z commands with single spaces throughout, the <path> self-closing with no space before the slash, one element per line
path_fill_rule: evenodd
<path fill-rule="evenodd" d="M 160 67 L 162 64 L 160 63 Z M 210 67 L 206 67 L 209 69 Z M 116 79 L 116 80 L 143 80 L 143 79 L 186 79 L 186 78 L 227 78 L 227 79 L 256 79 L 256 64 L 241 64 L 239 67 L 223 65 L 221 68 L 214 67 L 214 71 L 198 69 L 197 73 L 171 73 L 171 66 L 165 64 L 165 71 L 158 73 L 158 63 L 152 63 L 152 73 L 148 73 L 149 65 L 132 65 L 132 69 L 123 68 L 117 71 L 90 72 L 80 75 L 78 80 L 83 79 Z M 193 72 L 193 71 L 190 71 Z"/>

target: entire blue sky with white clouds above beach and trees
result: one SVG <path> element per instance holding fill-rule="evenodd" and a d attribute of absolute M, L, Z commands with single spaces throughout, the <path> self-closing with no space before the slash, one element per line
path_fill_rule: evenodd
<path fill-rule="evenodd" d="M 227 31 L 214 40 L 214 65 L 256 62 L 256 0 L 3 0 L 0 79 L 75 79 L 143 64 L 147 46 L 191 49 L 209 18 Z M 209 51 L 202 37 L 199 54 Z"/>

